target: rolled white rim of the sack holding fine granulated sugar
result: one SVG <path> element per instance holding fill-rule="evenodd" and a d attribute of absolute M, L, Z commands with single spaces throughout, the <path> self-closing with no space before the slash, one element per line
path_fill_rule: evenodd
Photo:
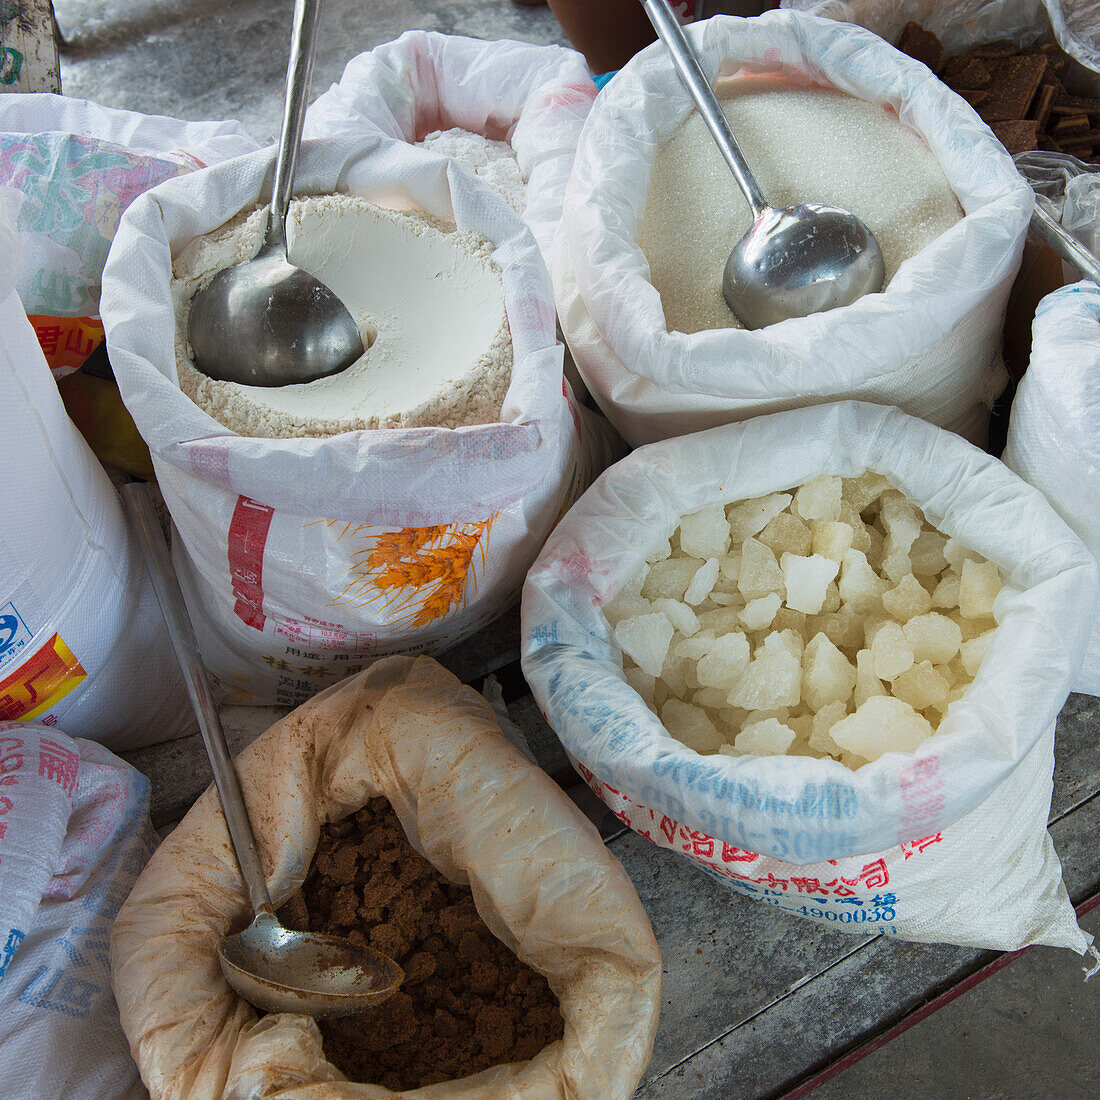
<path fill-rule="evenodd" d="M 757 331 L 669 332 L 636 230 L 652 156 L 693 108 L 663 46 L 654 43 L 619 70 L 588 114 L 559 240 L 573 257 L 593 322 L 629 371 L 673 392 L 729 399 L 828 397 L 851 389 L 853 364 L 861 359 L 868 378 L 902 370 L 1015 274 L 1033 193 L 970 105 L 920 62 L 855 24 L 796 11 L 751 20 L 715 15 L 685 30 L 708 79 L 744 68 L 893 108 L 936 155 L 965 217 L 906 260 L 884 292 L 844 309 Z M 603 167 L 608 161 L 616 173 Z M 618 170 L 624 164 L 635 169 L 625 174 L 626 183 Z M 968 261 L 979 250 L 980 262 Z M 638 323 L 624 323 L 624 315 Z M 723 361 L 752 362 L 754 369 L 717 370 Z"/>

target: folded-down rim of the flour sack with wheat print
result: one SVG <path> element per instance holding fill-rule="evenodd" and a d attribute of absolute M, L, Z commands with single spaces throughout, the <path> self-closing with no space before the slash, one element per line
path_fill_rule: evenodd
<path fill-rule="evenodd" d="M 274 161 L 275 148 L 268 146 L 167 180 L 139 196 L 122 216 L 103 270 L 101 316 L 123 402 L 154 455 L 184 473 L 301 515 L 315 515 L 322 495 L 333 515 L 348 519 L 407 512 L 404 482 L 396 475 L 403 463 L 439 465 L 438 504 L 429 510 L 440 517 L 450 501 L 464 499 L 464 491 L 469 496 L 471 476 L 482 482 L 492 476 L 494 490 L 483 502 L 486 515 L 539 485 L 570 418 L 561 404 L 563 346 L 538 246 L 527 226 L 488 188 L 472 183 L 447 157 L 402 141 L 364 135 L 302 142 L 296 194 L 411 199 L 496 245 L 514 341 L 502 420 L 321 438 L 248 437 L 226 428 L 180 391 L 165 271 L 196 237 L 270 200 Z M 470 518 L 469 504 L 462 518 Z"/>

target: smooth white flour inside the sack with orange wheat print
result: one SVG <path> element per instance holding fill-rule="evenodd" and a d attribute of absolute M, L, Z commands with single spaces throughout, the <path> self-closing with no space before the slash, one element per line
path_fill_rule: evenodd
<path fill-rule="evenodd" d="M 512 339 L 493 244 L 418 212 L 351 195 L 296 199 L 290 262 L 348 306 L 364 355 L 348 370 L 296 386 L 216 382 L 191 364 L 187 317 L 195 293 L 254 255 L 266 208 L 191 242 L 173 265 L 180 388 L 242 436 L 333 436 L 371 428 L 491 424 L 512 380 Z M 373 339 L 372 339 L 373 338 Z"/>

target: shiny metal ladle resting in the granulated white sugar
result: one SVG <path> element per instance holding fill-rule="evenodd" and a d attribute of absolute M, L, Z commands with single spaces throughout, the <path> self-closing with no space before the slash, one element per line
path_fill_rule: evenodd
<path fill-rule="evenodd" d="M 855 215 L 816 202 L 782 210 L 768 205 L 668 0 L 641 2 L 752 208 L 752 228 L 734 245 L 722 275 L 722 295 L 737 319 L 760 329 L 881 290 L 882 251 Z"/>

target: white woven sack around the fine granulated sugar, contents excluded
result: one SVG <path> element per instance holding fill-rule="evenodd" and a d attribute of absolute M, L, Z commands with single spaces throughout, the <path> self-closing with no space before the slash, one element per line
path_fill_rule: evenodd
<path fill-rule="evenodd" d="M 637 243 L 653 157 L 692 110 L 658 43 L 585 122 L 554 252 L 562 331 L 631 444 L 842 397 L 983 441 L 1004 386 L 1001 320 L 1033 197 L 970 106 L 869 32 L 799 12 L 686 29 L 714 79 L 739 68 L 889 105 L 935 153 L 966 217 L 881 295 L 755 332 L 669 332 Z"/>

